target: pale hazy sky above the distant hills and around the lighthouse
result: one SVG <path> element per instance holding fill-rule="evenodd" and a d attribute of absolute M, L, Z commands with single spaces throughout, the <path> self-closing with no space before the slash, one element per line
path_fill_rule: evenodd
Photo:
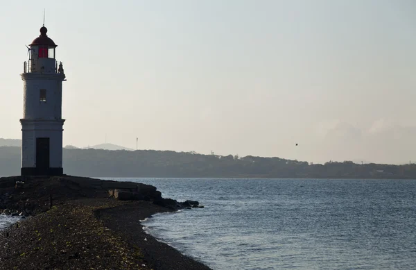
<path fill-rule="evenodd" d="M 4 1 L 0 137 L 43 8 L 64 145 L 416 161 L 414 0 Z"/>

